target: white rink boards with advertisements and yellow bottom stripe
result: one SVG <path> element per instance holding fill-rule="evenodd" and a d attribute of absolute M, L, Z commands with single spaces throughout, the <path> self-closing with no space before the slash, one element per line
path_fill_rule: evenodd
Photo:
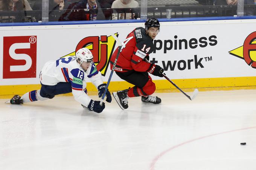
<path fill-rule="evenodd" d="M 87 46 L 106 82 L 116 49 L 143 22 L 116 24 L 37 25 L 0 27 L 0 95 L 23 94 L 40 88 L 43 64 Z M 256 86 L 255 19 L 160 22 L 151 62 L 165 69 L 180 88 Z M 174 88 L 152 76 L 157 89 Z M 113 74 L 111 91 L 130 86 Z M 97 89 L 88 83 L 88 91 Z"/>

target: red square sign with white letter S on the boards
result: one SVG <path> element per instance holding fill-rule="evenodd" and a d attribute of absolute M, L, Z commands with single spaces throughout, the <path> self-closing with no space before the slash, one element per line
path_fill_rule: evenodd
<path fill-rule="evenodd" d="M 3 37 L 3 79 L 37 77 L 37 36 Z"/>

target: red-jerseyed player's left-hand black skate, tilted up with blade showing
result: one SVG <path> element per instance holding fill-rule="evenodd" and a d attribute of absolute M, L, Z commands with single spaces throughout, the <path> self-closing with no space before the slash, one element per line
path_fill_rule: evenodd
<path fill-rule="evenodd" d="M 125 110 L 128 108 L 128 96 L 127 96 L 128 89 L 113 92 L 113 96 L 116 99 L 116 102 L 121 107 L 121 109 Z"/>

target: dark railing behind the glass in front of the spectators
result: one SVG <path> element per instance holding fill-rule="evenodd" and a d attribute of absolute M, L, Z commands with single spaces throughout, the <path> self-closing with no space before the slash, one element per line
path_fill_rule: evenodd
<path fill-rule="evenodd" d="M 172 9 L 171 18 L 234 16 L 237 13 L 236 5 L 150 7 L 148 18 L 166 18 L 166 9 Z M 118 19 L 121 13 L 125 16 L 126 13 L 134 13 L 131 19 L 140 18 L 140 8 L 72 9 L 51 11 L 49 21 L 90 20 L 90 15 L 94 14 L 97 14 L 97 20 L 112 20 L 113 13 L 118 14 Z M 244 15 L 256 15 L 256 5 L 244 5 Z M 41 21 L 41 19 L 41 10 L 0 12 L 0 22 L 34 22 Z"/>

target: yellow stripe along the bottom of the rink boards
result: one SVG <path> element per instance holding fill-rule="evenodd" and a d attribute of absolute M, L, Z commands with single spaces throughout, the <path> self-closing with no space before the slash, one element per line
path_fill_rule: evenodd
<path fill-rule="evenodd" d="M 171 77 L 170 77 L 171 78 Z M 172 79 L 171 79 L 172 80 Z M 201 79 L 173 79 L 179 88 L 185 92 L 193 91 L 198 88 L 200 91 L 218 91 L 234 89 L 256 89 L 256 77 L 233 77 L 233 78 L 201 78 Z M 167 80 L 155 80 L 156 92 L 179 92 Z M 106 83 L 106 82 L 105 82 Z M 108 89 L 117 91 L 127 89 L 133 85 L 124 81 L 110 82 Z M 10 98 L 15 94 L 23 95 L 26 92 L 40 89 L 40 84 L 30 85 L 3 85 L 0 86 L 0 98 Z M 91 83 L 87 83 L 88 95 L 97 95 L 98 89 Z M 64 94 L 64 95 L 72 95 Z"/>

